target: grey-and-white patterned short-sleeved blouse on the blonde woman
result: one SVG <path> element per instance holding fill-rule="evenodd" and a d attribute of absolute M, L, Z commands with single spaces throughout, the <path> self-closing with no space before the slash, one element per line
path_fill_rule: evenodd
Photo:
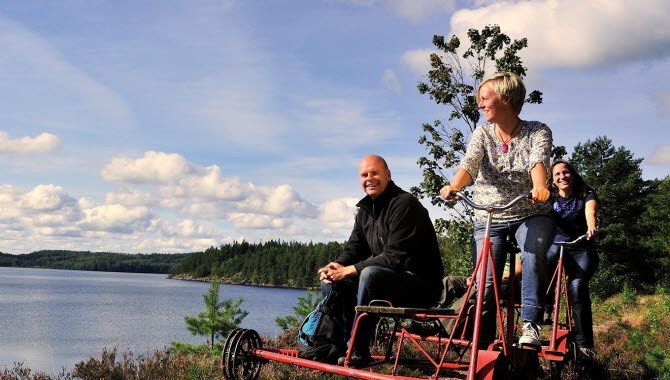
<path fill-rule="evenodd" d="M 487 205 L 506 204 L 533 188 L 530 171 L 535 164 L 549 168 L 551 130 L 539 121 L 523 121 L 519 134 L 508 142 L 507 153 L 495 132 L 495 124 L 482 125 L 472 132 L 460 168 L 474 179 L 473 200 Z M 516 221 L 532 215 L 549 214 L 549 203 L 519 202 L 493 214 L 496 223 Z M 485 221 L 486 211 L 476 211 L 475 219 Z"/>

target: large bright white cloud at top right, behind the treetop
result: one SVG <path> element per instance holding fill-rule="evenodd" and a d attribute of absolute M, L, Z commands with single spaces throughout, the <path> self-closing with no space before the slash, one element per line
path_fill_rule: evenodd
<path fill-rule="evenodd" d="M 451 34 L 466 40 L 469 28 L 498 24 L 512 38 L 528 38 L 528 65 L 587 67 L 625 63 L 670 53 L 670 2 L 645 0 L 542 0 L 463 9 Z"/>

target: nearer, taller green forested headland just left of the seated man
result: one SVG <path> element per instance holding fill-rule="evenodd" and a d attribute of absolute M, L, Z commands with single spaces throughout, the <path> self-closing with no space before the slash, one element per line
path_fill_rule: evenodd
<path fill-rule="evenodd" d="M 313 287 L 319 283 L 317 269 L 337 258 L 343 249 L 343 243 L 336 242 L 235 242 L 193 253 L 171 274 L 250 285 Z"/>

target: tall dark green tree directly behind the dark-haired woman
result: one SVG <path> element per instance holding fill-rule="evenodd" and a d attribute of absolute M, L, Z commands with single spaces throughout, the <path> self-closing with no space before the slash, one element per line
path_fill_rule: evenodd
<path fill-rule="evenodd" d="M 596 190 L 600 202 L 600 270 L 594 291 L 609 296 L 626 282 L 637 289 L 653 282 L 651 261 L 641 244 L 640 221 L 650 191 L 650 182 L 642 179 L 642 159 L 600 136 L 577 144 L 570 162 Z"/>

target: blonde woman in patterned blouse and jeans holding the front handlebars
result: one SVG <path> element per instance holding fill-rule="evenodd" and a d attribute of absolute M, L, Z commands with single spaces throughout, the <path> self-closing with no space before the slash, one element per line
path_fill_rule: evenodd
<path fill-rule="evenodd" d="M 521 345 L 540 349 L 540 325 L 544 317 L 547 284 L 547 250 L 554 239 L 555 226 L 549 198 L 547 168 L 551 152 L 551 130 L 538 121 L 522 120 L 519 114 L 526 88 L 514 73 L 498 73 L 482 81 L 477 102 L 486 124 L 477 127 L 451 184 L 440 196 L 452 199 L 452 191 L 472 184 L 473 199 L 483 204 L 506 204 L 519 194 L 532 193 L 530 202 L 521 202 L 494 214 L 491 227 L 496 274 L 500 281 L 509 244 L 514 238 L 521 250 L 523 280 L 521 318 L 524 321 Z M 481 251 L 486 212 L 475 214 L 473 245 Z M 478 279 L 479 281 L 479 279 Z M 493 276 L 488 271 L 482 314 L 481 347 L 493 342 L 496 319 Z"/>

